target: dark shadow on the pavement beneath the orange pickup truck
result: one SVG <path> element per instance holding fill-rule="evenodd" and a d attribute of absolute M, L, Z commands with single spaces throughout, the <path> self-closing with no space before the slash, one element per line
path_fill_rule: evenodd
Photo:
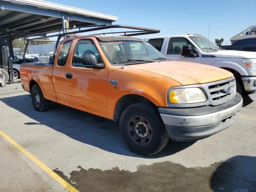
<path fill-rule="evenodd" d="M 126 146 L 119 134 L 118 123 L 111 120 L 53 102 L 50 110 L 37 112 L 28 95 L 0 98 L 0 101 L 36 121 L 25 122 L 26 126 L 45 125 L 79 142 L 125 156 L 160 158 L 175 154 L 194 144 L 169 140 L 166 148 L 159 154 L 152 157 L 139 156 Z"/>

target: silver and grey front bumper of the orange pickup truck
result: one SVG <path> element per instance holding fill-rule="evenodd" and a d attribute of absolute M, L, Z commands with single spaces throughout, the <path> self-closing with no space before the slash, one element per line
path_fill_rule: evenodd
<path fill-rule="evenodd" d="M 236 94 L 234 100 L 219 106 L 159 108 L 159 112 L 172 140 L 190 141 L 205 138 L 234 124 L 242 104 L 242 97 Z"/>

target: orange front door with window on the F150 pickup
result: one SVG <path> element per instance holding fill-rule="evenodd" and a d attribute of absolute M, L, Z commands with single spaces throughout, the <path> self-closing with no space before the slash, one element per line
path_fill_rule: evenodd
<path fill-rule="evenodd" d="M 92 114 L 106 116 L 108 68 L 96 69 L 82 64 L 82 56 L 94 54 L 103 62 L 92 39 L 76 40 L 72 44 L 70 63 L 66 68 L 66 90 L 69 105 Z"/>

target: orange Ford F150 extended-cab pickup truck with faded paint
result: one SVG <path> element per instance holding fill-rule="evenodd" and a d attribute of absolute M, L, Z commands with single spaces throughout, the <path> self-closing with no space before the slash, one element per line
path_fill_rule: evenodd
<path fill-rule="evenodd" d="M 124 142 L 144 156 L 160 152 L 169 137 L 191 141 L 220 132 L 242 107 L 232 73 L 170 61 L 128 36 L 66 38 L 53 64 L 22 64 L 20 76 L 35 110 L 52 101 L 119 121 Z"/>

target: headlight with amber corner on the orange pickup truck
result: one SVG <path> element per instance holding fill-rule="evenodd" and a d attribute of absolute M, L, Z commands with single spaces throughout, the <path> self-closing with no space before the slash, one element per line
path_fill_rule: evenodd
<path fill-rule="evenodd" d="M 200 103 L 206 101 L 204 92 L 197 87 L 174 89 L 169 92 L 172 104 Z"/>

